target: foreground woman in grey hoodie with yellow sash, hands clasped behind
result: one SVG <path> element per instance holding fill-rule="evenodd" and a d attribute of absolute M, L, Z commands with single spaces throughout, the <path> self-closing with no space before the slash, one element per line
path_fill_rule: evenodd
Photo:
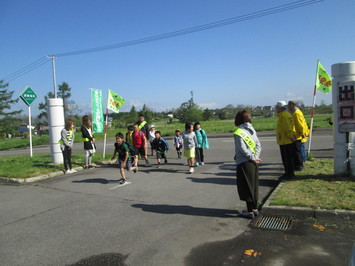
<path fill-rule="evenodd" d="M 247 211 L 240 216 L 253 219 L 259 214 L 259 168 L 261 162 L 260 141 L 251 124 L 251 115 L 246 110 L 235 117 L 237 129 L 234 131 L 235 162 L 237 164 L 237 189 L 240 200 L 246 201 Z"/>

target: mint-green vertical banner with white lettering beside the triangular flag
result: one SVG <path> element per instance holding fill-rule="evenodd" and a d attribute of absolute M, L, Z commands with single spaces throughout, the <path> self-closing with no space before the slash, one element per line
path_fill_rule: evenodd
<path fill-rule="evenodd" d="M 91 89 L 91 111 L 94 132 L 102 133 L 104 131 L 102 90 Z"/>

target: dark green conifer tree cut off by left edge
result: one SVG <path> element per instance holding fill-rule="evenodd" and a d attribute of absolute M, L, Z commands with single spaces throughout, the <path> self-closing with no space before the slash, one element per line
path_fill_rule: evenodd
<path fill-rule="evenodd" d="M 20 119 L 16 115 L 20 114 L 22 110 L 10 111 L 13 104 L 17 103 L 19 99 L 12 99 L 14 91 L 9 91 L 7 87 L 9 83 L 4 83 L 0 80 L 0 135 L 6 136 L 7 133 L 14 134 L 16 132 L 17 123 Z"/>

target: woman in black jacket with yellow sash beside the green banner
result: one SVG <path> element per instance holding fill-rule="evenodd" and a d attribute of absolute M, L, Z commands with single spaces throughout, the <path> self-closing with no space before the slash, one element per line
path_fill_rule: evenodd
<path fill-rule="evenodd" d="M 83 116 L 83 125 L 81 126 L 81 134 L 84 141 L 85 150 L 85 166 L 84 169 L 94 168 L 92 166 L 92 155 L 96 151 L 95 137 L 91 128 L 91 121 L 88 115 Z"/>

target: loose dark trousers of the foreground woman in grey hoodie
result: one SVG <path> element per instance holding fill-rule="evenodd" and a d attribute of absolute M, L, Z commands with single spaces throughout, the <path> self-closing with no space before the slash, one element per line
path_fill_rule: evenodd
<path fill-rule="evenodd" d="M 258 209 L 259 167 L 252 161 L 237 165 L 237 189 L 240 200 L 246 201 L 248 212 Z"/>

